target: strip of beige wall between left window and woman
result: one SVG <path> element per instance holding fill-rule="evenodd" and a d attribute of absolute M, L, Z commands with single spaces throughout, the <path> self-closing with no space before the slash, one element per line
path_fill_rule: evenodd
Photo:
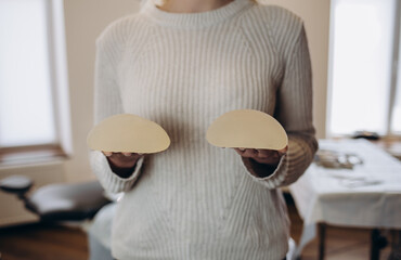
<path fill-rule="evenodd" d="M 94 179 L 86 138 L 93 125 L 94 41 L 114 20 L 139 10 L 138 0 L 64 0 L 74 153 L 68 182 Z"/>

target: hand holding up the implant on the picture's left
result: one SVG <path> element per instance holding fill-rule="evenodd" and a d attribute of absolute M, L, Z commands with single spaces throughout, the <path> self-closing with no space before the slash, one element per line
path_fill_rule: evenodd
<path fill-rule="evenodd" d="M 106 156 L 112 170 L 122 178 L 127 178 L 132 173 L 137 161 L 143 156 L 143 154 L 135 153 L 112 153 L 104 151 L 102 153 Z"/>

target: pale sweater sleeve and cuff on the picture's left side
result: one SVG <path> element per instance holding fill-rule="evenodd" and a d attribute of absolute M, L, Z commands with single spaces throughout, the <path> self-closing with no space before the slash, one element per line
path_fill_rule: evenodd
<path fill-rule="evenodd" d="M 122 114 L 122 102 L 118 87 L 117 68 L 122 52 L 121 26 L 112 24 L 96 39 L 94 72 L 94 125 L 101 120 Z M 141 157 L 130 177 L 120 178 L 114 173 L 107 158 L 100 151 L 89 151 L 90 167 L 102 186 L 112 193 L 127 192 L 137 181 L 143 157 Z"/>

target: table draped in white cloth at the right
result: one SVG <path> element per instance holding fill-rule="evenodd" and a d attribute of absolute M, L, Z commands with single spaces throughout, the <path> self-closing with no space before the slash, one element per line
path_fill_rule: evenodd
<path fill-rule="evenodd" d="M 400 230 L 401 162 L 365 140 L 320 140 L 319 144 L 320 150 L 355 154 L 363 164 L 353 169 L 327 169 L 312 164 L 289 186 L 303 219 L 294 258 L 300 256 L 302 248 L 315 237 L 320 223 Z M 324 237 L 324 225 L 321 232 Z"/>

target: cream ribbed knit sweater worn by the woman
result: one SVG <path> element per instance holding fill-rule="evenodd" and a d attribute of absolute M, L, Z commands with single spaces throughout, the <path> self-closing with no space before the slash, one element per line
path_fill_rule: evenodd
<path fill-rule="evenodd" d="M 241 108 L 274 115 L 289 136 L 277 169 L 207 143 L 209 125 Z M 111 192 L 126 192 L 113 256 L 127 259 L 282 259 L 289 222 L 276 190 L 296 181 L 318 147 L 311 66 L 302 22 L 277 8 L 234 0 L 204 13 L 152 3 L 96 40 L 95 123 L 121 113 L 159 123 L 171 139 L 128 179 L 90 152 Z M 267 132 L 266 134 L 269 134 Z"/>

